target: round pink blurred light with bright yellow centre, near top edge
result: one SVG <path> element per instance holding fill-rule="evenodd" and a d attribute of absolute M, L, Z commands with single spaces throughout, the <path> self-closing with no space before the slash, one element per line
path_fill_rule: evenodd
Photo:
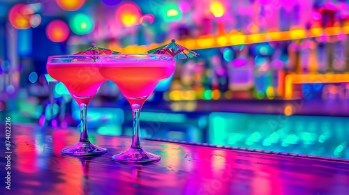
<path fill-rule="evenodd" d="M 123 3 L 117 8 L 116 20 L 119 26 L 135 26 L 140 24 L 142 16 L 140 8 L 135 3 Z"/>

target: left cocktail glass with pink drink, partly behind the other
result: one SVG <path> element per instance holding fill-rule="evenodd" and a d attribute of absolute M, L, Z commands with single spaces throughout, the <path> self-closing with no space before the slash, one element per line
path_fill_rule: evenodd
<path fill-rule="evenodd" d="M 87 132 L 87 106 L 106 81 L 98 71 L 98 59 L 99 56 L 94 55 L 64 55 L 50 56 L 47 60 L 48 74 L 61 81 L 80 106 L 80 140 L 75 146 L 62 150 L 63 155 L 101 155 L 107 152 L 106 148 L 92 144 Z"/>

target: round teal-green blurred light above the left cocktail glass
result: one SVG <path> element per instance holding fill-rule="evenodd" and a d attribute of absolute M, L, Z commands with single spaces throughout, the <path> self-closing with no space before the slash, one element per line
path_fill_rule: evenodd
<path fill-rule="evenodd" d="M 94 20 L 89 15 L 79 13 L 70 18 L 70 29 L 77 35 L 86 35 L 94 30 Z"/>

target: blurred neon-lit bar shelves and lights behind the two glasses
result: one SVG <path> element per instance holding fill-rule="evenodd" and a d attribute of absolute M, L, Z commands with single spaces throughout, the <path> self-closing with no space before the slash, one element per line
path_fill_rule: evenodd
<path fill-rule="evenodd" d="M 47 56 L 92 42 L 144 53 L 174 38 L 200 56 L 156 86 L 142 137 L 349 159 L 348 34 L 348 0 L 0 0 L 0 111 L 76 127 L 80 111 L 47 75 Z M 110 81 L 88 120 L 98 134 L 132 132 Z"/>

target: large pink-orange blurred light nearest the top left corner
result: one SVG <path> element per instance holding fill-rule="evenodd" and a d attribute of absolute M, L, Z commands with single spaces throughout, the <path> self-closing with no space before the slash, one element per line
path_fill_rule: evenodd
<path fill-rule="evenodd" d="M 34 14 L 34 10 L 24 3 L 17 4 L 10 9 L 8 13 L 8 21 L 15 29 L 29 29 L 30 17 Z"/>

